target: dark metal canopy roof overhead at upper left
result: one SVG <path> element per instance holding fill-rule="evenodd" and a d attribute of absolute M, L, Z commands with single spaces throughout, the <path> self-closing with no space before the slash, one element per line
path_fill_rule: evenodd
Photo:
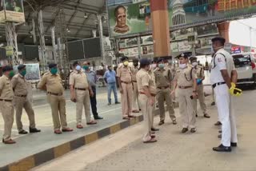
<path fill-rule="evenodd" d="M 68 41 L 91 38 L 92 30 L 98 30 L 97 14 L 102 14 L 103 34 L 108 36 L 105 0 L 24 0 L 26 23 L 17 26 L 18 42 L 34 44 L 32 38 L 32 18 L 34 10 L 42 9 L 42 20 L 46 35 L 46 45 L 51 44 L 51 26 L 54 26 L 60 9 L 65 14 Z M 104 22 L 105 21 L 105 22 Z M 0 26 L 0 42 L 6 42 L 5 26 Z"/>

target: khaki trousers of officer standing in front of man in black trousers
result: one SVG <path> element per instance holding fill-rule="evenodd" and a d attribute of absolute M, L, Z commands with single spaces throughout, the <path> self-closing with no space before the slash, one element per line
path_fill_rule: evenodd
<path fill-rule="evenodd" d="M 90 122 L 90 93 L 87 89 L 84 90 L 75 90 L 75 96 L 77 99 L 76 110 L 77 110 L 77 125 L 82 125 L 82 108 L 85 108 L 86 113 L 86 123 Z"/>

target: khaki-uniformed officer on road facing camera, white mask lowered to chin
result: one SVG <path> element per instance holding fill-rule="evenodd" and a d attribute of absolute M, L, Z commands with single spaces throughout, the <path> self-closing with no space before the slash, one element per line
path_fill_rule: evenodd
<path fill-rule="evenodd" d="M 191 133 L 195 133 L 196 117 L 192 99 L 197 97 L 197 75 L 188 64 L 189 59 L 185 54 L 181 54 L 178 58 L 179 68 L 174 76 L 174 89 L 178 87 L 178 106 L 179 113 L 182 115 L 182 133 L 186 133 L 189 128 Z"/>

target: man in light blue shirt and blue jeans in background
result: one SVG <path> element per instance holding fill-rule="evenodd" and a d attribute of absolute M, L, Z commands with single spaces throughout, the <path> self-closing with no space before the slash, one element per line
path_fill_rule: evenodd
<path fill-rule="evenodd" d="M 112 66 L 107 67 L 106 73 L 104 74 L 104 80 L 107 83 L 107 98 L 108 105 L 111 105 L 111 92 L 114 91 L 114 100 L 115 104 L 119 104 L 118 102 L 118 93 L 117 93 L 117 85 L 116 85 L 116 73 L 112 70 Z"/>

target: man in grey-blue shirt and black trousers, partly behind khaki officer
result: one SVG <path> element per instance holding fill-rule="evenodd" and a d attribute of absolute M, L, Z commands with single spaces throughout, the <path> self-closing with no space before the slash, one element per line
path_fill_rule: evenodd
<path fill-rule="evenodd" d="M 98 120 L 98 119 L 103 119 L 103 117 L 98 116 L 98 112 L 97 112 L 97 99 L 96 99 L 96 82 L 97 82 L 97 77 L 96 74 L 93 70 L 90 70 L 89 68 L 90 66 L 90 62 L 83 62 L 83 70 L 85 70 L 86 72 L 86 76 L 87 76 L 87 80 L 90 84 L 91 89 L 94 92 L 94 96 L 90 96 L 90 106 L 91 106 L 91 110 L 94 114 L 94 119 Z"/>

